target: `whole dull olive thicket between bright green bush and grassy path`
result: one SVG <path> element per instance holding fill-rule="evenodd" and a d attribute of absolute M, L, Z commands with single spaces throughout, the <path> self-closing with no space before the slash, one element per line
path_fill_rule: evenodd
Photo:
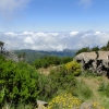
<path fill-rule="evenodd" d="M 52 70 L 49 75 L 38 77 L 38 98 L 49 100 L 60 92 L 72 92 L 75 84 L 76 80 L 73 73 L 66 73 L 64 66 L 59 66 Z"/>

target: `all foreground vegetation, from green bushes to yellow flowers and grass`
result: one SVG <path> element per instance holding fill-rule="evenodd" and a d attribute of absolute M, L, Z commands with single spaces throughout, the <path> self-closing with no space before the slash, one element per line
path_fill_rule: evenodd
<path fill-rule="evenodd" d="M 97 51 L 98 47 L 92 50 Z M 48 109 L 80 108 L 84 102 L 89 102 L 92 109 L 109 109 L 109 81 L 88 71 L 83 73 L 72 60 L 50 56 L 28 64 L 0 55 L 0 108 L 33 109 L 39 99 L 49 102 Z M 37 72 L 51 65 L 56 69 L 48 75 Z"/>

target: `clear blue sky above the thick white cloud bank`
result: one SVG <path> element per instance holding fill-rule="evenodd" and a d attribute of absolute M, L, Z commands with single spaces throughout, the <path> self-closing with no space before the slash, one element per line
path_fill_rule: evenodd
<path fill-rule="evenodd" d="M 109 28 L 109 0 L 0 1 L 0 32 L 85 32 Z"/>

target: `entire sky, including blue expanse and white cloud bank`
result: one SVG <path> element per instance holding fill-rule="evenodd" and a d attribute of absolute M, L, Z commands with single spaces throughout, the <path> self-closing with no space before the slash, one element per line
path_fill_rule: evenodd
<path fill-rule="evenodd" d="M 0 0 L 0 40 L 8 49 L 100 47 L 109 40 L 108 11 L 109 0 Z"/>

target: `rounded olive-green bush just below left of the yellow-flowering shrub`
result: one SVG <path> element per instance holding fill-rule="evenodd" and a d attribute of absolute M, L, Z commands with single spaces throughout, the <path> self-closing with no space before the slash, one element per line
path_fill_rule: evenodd
<path fill-rule="evenodd" d="M 72 92 L 71 87 L 73 88 L 76 84 L 76 80 L 73 73 L 66 73 L 65 66 L 61 66 L 58 68 L 56 71 L 52 71 L 49 75 L 49 78 L 58 92 Z"/>

